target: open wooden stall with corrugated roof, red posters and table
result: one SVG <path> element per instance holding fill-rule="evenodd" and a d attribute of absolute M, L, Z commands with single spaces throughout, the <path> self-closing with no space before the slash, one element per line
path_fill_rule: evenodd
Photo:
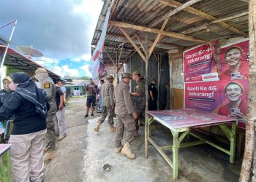
<path fill-rule="evenodd" d="M 233 163 L 244 151 L 245 132 L 252 132 L 246 130 L 246 106 L 249 60 L 255 61 L 255 47 L 250 43 L 255 37 L 249 36 L 252 23 L 248 22 L 253 2 L 157 0 L 139 4 L 105 1 L 91 44 L 96 47 L 111 7 L 104 64 L 116 66 L 116 75 L 120 68 L 129 73 L 139 71 L 146 88 L 152 79 L 157 80 L 158 110 L 164 111 L 146 107 L 146 157 L 151 143 L 173 169 L 174 179 L 178 178 L 179 148 L 208 143 Z M 133 87 L 131 84 L 131 90 Z M 153 122 L 170 129 L 173 144 L 157 146 L 150 137 Z M 229 148 L 192 130 L 214 140 L 225 137 Z M 199 141 L 181 143 L 189 135 Z M 172 160 L 167 151 L 173 151 Z"/>

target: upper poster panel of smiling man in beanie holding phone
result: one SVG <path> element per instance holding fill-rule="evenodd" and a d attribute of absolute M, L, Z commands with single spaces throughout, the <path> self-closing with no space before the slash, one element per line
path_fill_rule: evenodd
<path fill-rule="evenodd" d="M 249 75 L 248 39 L 227 44 L 219 52 L 220 79 L 248 79 Z"/>

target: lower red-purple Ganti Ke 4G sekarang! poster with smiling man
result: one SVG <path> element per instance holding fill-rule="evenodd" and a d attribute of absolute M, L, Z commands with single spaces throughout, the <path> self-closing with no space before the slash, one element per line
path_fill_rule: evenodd
<path fill-rule="evenodd" d="M 185 108 L 233 116 L 244 127 L 247 92 L 247 79 L 186 83 Z"/>

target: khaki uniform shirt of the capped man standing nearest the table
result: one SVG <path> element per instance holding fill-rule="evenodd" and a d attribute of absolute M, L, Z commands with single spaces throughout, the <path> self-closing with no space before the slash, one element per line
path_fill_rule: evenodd
<path fill-rule="evenodd" d="M 121 81 L 114 90 L 114 101 L 116 103 L 115 113 L 120 116 L 132 114 L 135 109 L 132 106 L 132 99 L 129 92 L 129 84 Z"/>

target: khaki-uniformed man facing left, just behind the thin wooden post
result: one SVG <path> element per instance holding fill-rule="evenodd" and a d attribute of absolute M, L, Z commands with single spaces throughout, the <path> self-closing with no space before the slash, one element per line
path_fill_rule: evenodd
<path fill-rule="evenodd" d="M 143 109 L 145 108 L 145 83 L 140 79 L 140 72 L 134 71 L 132 73 L 132 79 L 136 82 L 132 95 L 132 102 L 135 108 L 135 112 L 138 114 L 138 119 L 135 120 L 136 135 L 138 137 L 139 131 L 139 117 L 142 116 Z M 141 118 L 140 118 L 141 119 Z"/>

